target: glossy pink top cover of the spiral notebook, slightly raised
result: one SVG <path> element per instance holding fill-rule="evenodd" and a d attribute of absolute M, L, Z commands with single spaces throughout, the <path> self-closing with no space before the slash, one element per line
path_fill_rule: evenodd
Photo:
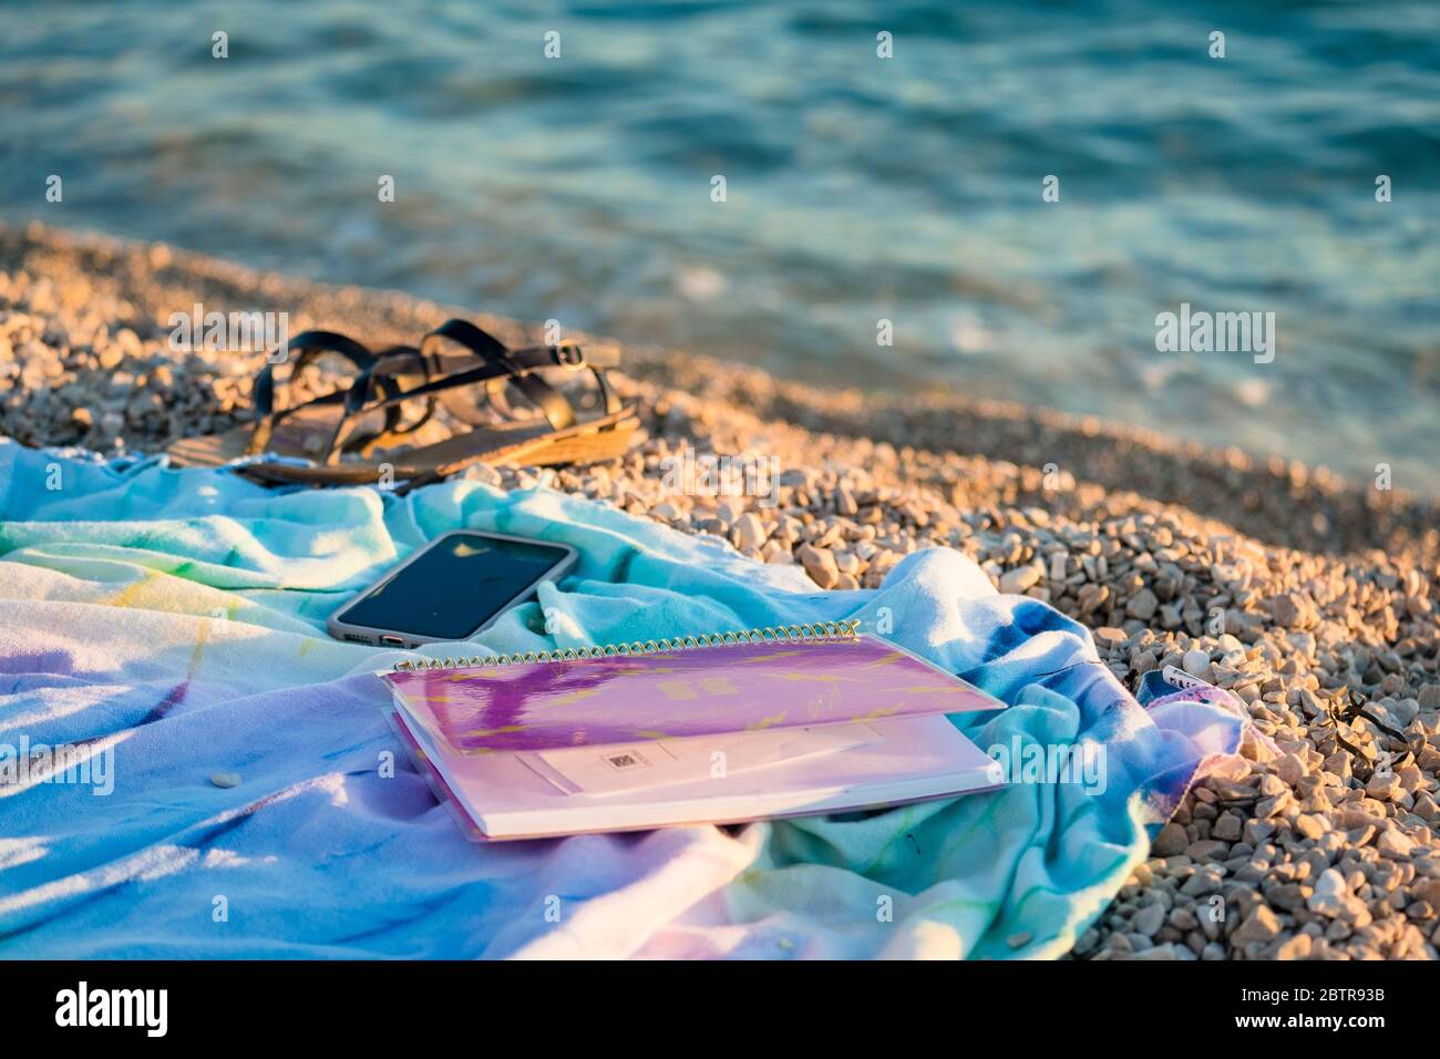
<path fill-rule="evenodd" d="M 410 718 L 461 754 L 1004 709 L 865 634 L 406 670 L 384 680 Z"/>

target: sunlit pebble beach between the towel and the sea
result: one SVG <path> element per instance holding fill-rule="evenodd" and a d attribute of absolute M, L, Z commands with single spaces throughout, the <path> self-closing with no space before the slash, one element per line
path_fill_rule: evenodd
<path fill-rule="evenodd" d="M 148 454 L 245 422 L 265 354 L 177 352 L 167 320 L 196 304 L 285 311 L 291 334 L 330 327 L 372 346 L 452 316 L 511 344 L 543 337 L 161 243 L 0 226 L 0 435 Z M 904 555 L 953 548 L 1002 592 L 1089 627 L 1126 686 L 1174 666 L 1244 703 L 1256 738 L 1189 792 L 1074 958 L 1440 955 L 1433 500 L 1113 422 L 824 389 L 664 349 L 626 344 L 616 386 L 644 425 L 625 458 L 469 474 L 714 533 L 821 589 L 876 586 Z M 667 471 L 688 452 L 763 461 L 775 488 L 677 488 Z M 1349 693 L 1369 718 L 1333 716 Z"/>

